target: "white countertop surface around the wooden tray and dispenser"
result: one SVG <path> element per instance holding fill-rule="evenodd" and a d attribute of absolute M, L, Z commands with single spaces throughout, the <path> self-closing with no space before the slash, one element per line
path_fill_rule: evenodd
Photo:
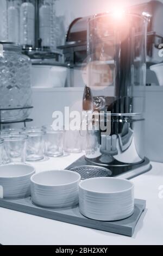
<path fill-rule="evenodd" d="M 34 163 L 36 172 L 64 169 L 82 154 Z M 152 162 L 152 170 L 132 179 L 135 198 L 145 199 L 147 209 L 136 225 L 133 237 L 116 235 L 78 225 L 48 220 L 0 208 L 2 245 L 163 245 L 163 163 Z M 163 192 L 162 192 L 163 197 Z"/>

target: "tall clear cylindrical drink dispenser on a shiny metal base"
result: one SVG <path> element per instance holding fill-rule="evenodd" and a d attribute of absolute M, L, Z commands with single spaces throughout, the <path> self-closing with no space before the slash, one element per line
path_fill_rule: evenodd
<path fill-rule="evenodd" d="M 95 109 L 100 101 L 106 102 L 99 122 L 109 122 L 111 132 L 101 130 L 99 144 L 86 150 L 86 160 L 117 173 L 146 160 L 142 145 L 146 31 L 145 17 L 123 11 L 95 15 L 87 22 L 87 86 L 103 89 Z"/>

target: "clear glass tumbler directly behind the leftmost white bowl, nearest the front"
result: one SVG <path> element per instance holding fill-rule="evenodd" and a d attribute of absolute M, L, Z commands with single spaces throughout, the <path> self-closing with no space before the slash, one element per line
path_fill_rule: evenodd
<path fill-rule="evenodd" d="M 4 163 L 26 161 L 26 135 L 4 135 Z"/>

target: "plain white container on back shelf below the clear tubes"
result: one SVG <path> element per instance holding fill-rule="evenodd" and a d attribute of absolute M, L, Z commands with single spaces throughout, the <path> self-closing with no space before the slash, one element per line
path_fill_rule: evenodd
<path fill-rule="evenodd" d="M 67 68 L 65 66 L 32 65 L 32 86 L 39 88 L 65 87 Z"/>

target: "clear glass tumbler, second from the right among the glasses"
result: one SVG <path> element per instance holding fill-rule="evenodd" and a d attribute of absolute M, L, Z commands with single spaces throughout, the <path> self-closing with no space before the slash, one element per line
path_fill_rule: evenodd
<path fill-rule="evenodd" d="M 45 155 L 57 157 L 64 154 L 64 131 L 47 128 L 44 135 Z"/>

